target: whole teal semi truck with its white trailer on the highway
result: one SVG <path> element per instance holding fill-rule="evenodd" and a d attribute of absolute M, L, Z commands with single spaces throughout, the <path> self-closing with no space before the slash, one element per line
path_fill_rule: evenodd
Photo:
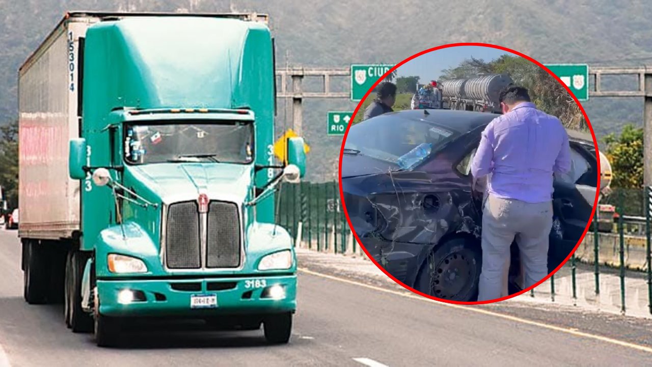
<path fill-rule="evenodd" d="M 24 298 L 113 345 L 135 317 L 286 343 L 297 260 L 274 191 L 274 41 L 261 14 L 69 12 L 19 71 Z"/>

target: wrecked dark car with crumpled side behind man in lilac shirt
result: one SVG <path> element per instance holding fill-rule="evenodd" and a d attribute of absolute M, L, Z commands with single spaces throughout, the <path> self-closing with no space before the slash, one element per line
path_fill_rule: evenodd
<path fill-rule="evenodd" d="M 494 118 L 482 112 L 407 110 L 349 129 L 340 173 L 352 229 L 376 263 L 417 291 L 477 300 L 486 193 L 484 185 L 473 185 L 470 167 L 481 133 Z M 591 135 L 569 131 L 569 138 L 571 171 L 554 179 L 550 272 L 582 237 L 598 185 Z M 510 294 L 521 290 L 519 258 L 512 244 L 506 274 Z"/>

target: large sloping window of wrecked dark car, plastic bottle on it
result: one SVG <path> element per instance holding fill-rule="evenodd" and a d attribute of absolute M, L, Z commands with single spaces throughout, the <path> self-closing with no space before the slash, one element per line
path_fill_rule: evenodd
<path fill-rule="evenodd" d="M 423 161 L 454 137 L 453 131 L 428 121 L 382 116 L 351 126 L 344 153 L 366 155 L 404 167 L 402 161 L 414 159 L 413 155 Z M 424 151 L 417 152 L 422 147 Z"/>

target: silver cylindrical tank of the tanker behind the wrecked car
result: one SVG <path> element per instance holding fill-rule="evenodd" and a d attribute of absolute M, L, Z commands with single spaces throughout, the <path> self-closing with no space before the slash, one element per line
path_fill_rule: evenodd
<path fill-rule="evenodd" d="M 444 108 L 499 114 L 500 90 L 513 83 L 507 74 L 478 74 L 477 78 L 445 80 L 441 82 Z"/>

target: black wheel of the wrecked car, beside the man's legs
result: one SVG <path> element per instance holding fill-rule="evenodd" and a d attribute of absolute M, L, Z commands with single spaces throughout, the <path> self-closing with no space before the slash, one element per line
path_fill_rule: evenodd
<path fill-rule="evenodd" d="M 479 241 L 457 237 L 436 246 L 424 261 L 415 289 L 437 298 L 473 302 L 482 270 Z"/>

